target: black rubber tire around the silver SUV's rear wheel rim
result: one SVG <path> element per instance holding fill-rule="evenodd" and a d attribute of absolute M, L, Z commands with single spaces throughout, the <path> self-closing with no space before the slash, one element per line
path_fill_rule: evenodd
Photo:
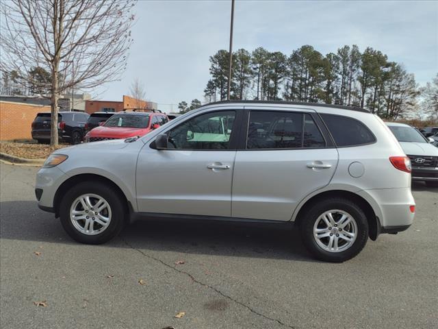
<path fill-rule="evenodd" d="M 342 210 L 347 212 L 356 222 L 357 234 L 356 240 L 341 252 L 330 252 L 318 245 L 316 238 L 313 235 L 313 227 L 318 218 L 329 210 Z M 300 231 L 302 234 L 302 241 L 305 247 L 319 260 L 327 262 L 344 262 L 355 257 L 368 241 L 368 221 L 363 210 L 354 202 L 344 198 L 330 198 L 324 199 L 315 203 L 300 219 Z M 330 228 L 332 230 L 332 228 Z M 329 231 L 333 232 L 333 231 Z M 338 232 L 339 233 L 339 232 Z M 330 237 L 327 237 L 330 239 Z M 339 241 L 341 239 L 339 238 Z M 342 243 L 345 243 L 342 241 Z"/>

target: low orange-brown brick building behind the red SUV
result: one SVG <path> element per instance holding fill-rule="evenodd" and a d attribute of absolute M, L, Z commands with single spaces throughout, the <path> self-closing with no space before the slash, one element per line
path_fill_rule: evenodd
<path fill-rule="evenodd" d="M 85 112 L 88 114 L 94 112 L 129 111 L 133 109 L 157 110 L 157 103 L 136 99 L 127 95 L 123 95 L 123 101 L 85 101 Z"/>

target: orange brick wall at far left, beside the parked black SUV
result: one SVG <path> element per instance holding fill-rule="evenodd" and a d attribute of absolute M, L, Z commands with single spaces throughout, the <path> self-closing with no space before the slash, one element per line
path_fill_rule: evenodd
<path fill-rule="evenodd" d="M 31 124 L 39 112 L 50 112 L 50 106 L 0 100 L 0 141 L 31 139 Z"/>

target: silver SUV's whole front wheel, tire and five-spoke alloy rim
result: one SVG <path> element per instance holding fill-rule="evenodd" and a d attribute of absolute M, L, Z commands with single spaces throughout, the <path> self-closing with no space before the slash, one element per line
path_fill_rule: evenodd
<path fill-rule="evenodd" d="M 81 243 L 109 241 L 123 228 L 125 214 L 121 197 L 101 182 L 82 182 L 73 186 L 60 204 L 64 230 Z"/>

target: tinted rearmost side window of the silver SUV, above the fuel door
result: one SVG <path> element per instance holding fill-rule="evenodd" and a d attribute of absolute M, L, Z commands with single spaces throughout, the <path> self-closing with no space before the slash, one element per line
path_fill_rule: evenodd
<path fill-rule="evenodd" d="M 336 146 L 353 146 L 374 143 L 376 138 L 361 121 L 334 114 L 321 114 L 335 139 Z"/>

